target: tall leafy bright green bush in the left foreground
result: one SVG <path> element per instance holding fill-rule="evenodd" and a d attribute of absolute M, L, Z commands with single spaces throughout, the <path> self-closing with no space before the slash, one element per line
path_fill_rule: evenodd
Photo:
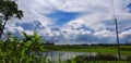
<path fill-rule="evenodd" d="M 0 63 L 40 63 L 45 61 L 46 58 L 38 53 L 45 50 L 40 36 L 36 33 L 32 36 L 25 33 L 23 35 L 24 39 L 19 39 L 8 33 L 8 39 L 0 40 Z"/>

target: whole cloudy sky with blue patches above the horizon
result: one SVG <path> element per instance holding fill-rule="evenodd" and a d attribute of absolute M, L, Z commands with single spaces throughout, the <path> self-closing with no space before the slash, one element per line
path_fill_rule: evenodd
<path fill-rule="evenodd" d="M 131 0 L 17 0 L 22 20 L 5 26 L 22 36 L 37 32 L 56 45 L 116 43 L 118 20 L 120 42 L 131 42 Z M 114 5 L 114 7 L 112 7 Z M 115 13 L 114 13 L 115 10 Z"/>

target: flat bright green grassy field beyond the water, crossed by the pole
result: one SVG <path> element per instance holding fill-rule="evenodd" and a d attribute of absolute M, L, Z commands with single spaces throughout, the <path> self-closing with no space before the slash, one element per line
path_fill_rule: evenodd
<path fill-rule="evenodd" d="M 47 50 L 117 54 L 117 46 L 45 46 Z M 120 46 L 122 55 L 131 55 L 131 46 Z"/>

